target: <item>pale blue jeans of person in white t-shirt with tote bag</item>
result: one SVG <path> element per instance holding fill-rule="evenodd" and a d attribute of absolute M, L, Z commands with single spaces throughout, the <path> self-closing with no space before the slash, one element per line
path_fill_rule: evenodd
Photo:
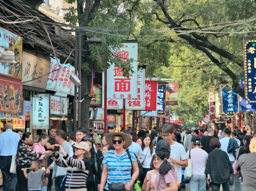
<path fill-rule="evenodd" d="M 192 175 L 189 179 L 190 191 L 205 191 L 206 175 Z"/>

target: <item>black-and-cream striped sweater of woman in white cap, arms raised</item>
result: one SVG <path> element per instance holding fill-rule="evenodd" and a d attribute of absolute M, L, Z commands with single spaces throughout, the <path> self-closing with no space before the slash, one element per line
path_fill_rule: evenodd
<path fill-rule="evenodd" d="M 58 157 L 58 158 L 57 158 Z M 89 173 L 90 161 L 82 159 L 80 161 L 66 155 L 65 160 L 60 160 L 59 155 L 56 156 L 56 165 L 60 167 L 68 167 L 67 179 L 65 183 L 66 189 L 74 189 L 76 191 L 86 190 L 86 180 Z"/>

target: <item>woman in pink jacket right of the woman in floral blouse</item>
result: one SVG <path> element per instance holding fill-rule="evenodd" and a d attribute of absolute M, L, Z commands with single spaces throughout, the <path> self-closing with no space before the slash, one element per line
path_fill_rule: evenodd
<path fill-rule="evenodd" d="M 49 136 L 43 133 L 42 135 L 40 135 L 40 137 L 38 137 L 37 143 L 34 143 L 31 149 L 37 153 L 45 152 L 44 146 L 48 143 L 48 141 L 49 141 Z M 46 155 L 41 155 L 41 157 L 39 158 L 39 160 L 40 160 L 39 168 L 40 169 L 42 167 L 47 169 L 47 167 L 48 167 L 47 158 L 48 158 L 48 156 L 46 156 Z M 43 179 L 43 187 L 42 187 L 41 191 L 47 191 L 47 184 L 48 184 L 48 177 L 45 177 Z"/>

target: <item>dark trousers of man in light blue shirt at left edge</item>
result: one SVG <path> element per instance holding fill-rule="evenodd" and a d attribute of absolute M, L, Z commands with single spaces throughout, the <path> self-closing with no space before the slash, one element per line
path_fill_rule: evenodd
<path fill-rule="evenodd" d="M 0 156 L 0 169 L 3 175 L 4 191 L 15 191 L 17 184 L 17 175 L 10 173 L 11 163 L 12 156 Z"/>

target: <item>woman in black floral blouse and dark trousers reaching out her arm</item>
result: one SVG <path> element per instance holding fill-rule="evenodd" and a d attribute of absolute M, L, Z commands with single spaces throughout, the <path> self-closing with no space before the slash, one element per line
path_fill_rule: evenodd
<path fill-rule="evenodd" d="M 16 190 L 27 191 L 28 181 L 23 174 L 22 168 L 29 168 L 31 165 L 31 160 L 33 158 L 40 158 L 42 155 L 50 154 L 51 151 L 35 152 L 30 147 L 29 144 L 33 141 L 32 134 L 30 132 L 25 132 L 22 135 L 18 143 L 17 155 L 16 155 L 16 172 L 17 172 L 17 185 Z M 28 173 L 28 171 L 27 171 Z"/>

